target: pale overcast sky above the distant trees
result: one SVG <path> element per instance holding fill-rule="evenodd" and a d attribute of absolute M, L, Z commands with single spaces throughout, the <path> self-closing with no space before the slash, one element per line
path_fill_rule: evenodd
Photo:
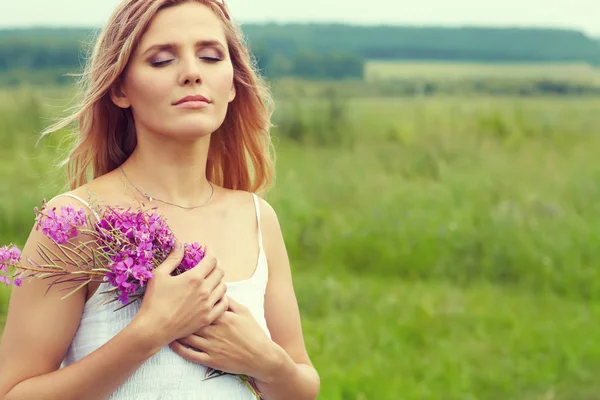
<path fill-rule="evenodd" d="M 120 0 L 0 0 L 0 28 L 102 26 Z M 565 27 L 600 36 L 600 0 L 229 0 L 241 23 Z"/>

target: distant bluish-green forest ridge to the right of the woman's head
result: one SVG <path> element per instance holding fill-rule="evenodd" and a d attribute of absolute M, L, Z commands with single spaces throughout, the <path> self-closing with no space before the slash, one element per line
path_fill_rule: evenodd
<path fill-rule="evenodd" d="M 600 41 L 566 29 L 264 24 L 244 32 L 251 43 L 288 56 L 310 49 L 367 59 L 600 64 Z"/>

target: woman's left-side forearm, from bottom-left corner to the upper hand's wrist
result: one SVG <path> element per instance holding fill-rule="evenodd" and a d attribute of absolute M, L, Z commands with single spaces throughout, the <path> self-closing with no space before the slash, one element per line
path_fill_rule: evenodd
<path fill-rule="evenodd" d="M 5 399 L 106 399 L 162 347 L 149 336 L 150 331 L 150 327 L 134 319 L 80 361 L 20 382 Z"/>

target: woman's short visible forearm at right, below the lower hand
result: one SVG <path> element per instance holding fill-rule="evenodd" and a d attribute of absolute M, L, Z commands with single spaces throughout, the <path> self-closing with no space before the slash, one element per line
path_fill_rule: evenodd
<path fill-rule="evenodd" d="M 320 390 L 320 378 L 310 365 L 297 364 L 277 346 L 277 362 L 271 376 L 256 385 L 265 400 L 314 400 Z"/>

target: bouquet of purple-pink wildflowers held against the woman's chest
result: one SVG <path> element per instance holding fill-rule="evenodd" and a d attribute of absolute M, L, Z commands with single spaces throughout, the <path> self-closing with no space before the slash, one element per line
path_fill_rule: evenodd
<path fill-rule="evenodd" d="M 38 243 L 37 251 L 43 262 L 21 259 L 14 245 L 0 248 L 0 282 L 21 286 L 24 279 L 49 279 L 48 290 L 59 283 L 67 287 L 67 298 L 91 282 L 109 282 L 108 303 L 120 302 L 117 311 L 141 299 L 152 271 L 164 262 L 175 245 L 175 235 L 166 221 L 152 209 L 136 210 L 109 206 L 94 207 L 98 219 L 86 216 L 83 208 L 72 206 L 48 209 L 45 200 L 41 209 L 35 208 L 36 229 L 56 245 L 53 248 Z M 184 244 L 184 257 L 173 272 L 182 274 L 204 258 L 198 244 Z M 3 275 L 2 273 L 6 274 Z M 207 379 L 224 375 L 208 368 Z M 238 376 L 260 398 L 254 381 Z"/>

